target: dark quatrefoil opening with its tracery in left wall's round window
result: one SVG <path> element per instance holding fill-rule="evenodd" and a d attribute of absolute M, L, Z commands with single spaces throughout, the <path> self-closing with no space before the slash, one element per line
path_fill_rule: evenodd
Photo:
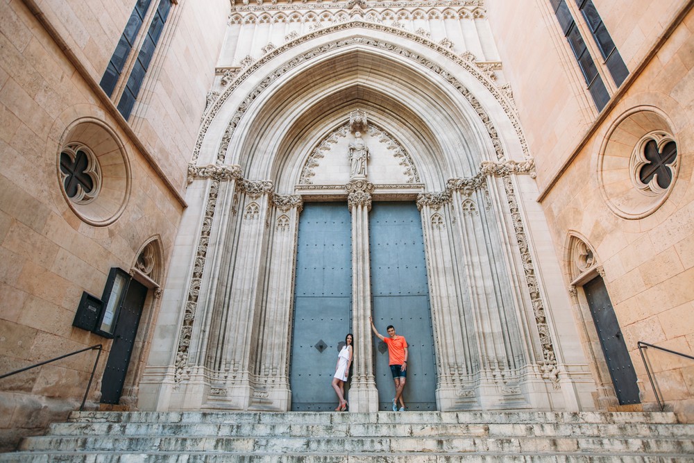
<path fill-rule="evenodd" d="M 67 197 L 87 204 L 99 196 L 101 168 L 92 150 L 80 143 L 70 143 L 60 153 L 60 176 Z"/>

